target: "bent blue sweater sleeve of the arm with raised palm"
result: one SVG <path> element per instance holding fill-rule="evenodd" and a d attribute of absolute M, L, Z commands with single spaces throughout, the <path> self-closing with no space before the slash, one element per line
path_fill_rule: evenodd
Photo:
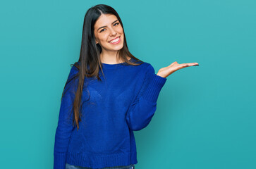
<path fill-rule="evenodd" d="M 126 113 L 126 122 L 134 131 L 142 130 L 150 123 L 157 110 L 159 93 L 167 80 L 166 77 L 156 75 L 152 65 L 149 65 L 146 71 L 140 92 Z"/>

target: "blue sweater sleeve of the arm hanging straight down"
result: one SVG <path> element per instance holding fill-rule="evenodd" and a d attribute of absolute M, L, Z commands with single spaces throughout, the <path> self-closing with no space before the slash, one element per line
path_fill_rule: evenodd
<path fill-rule="evenodd" d="M 73 127 L 73 101 L 77 89 L 76 84 L 78 84 L 78 78 L 76 78 L 77 73 L 78 68 L 73 65 L 61 99 L 59 121 L 56 127 L 54 142 L 54 169 L 65 169 L 69 139 L 71 132 L 75 128 Z"/>

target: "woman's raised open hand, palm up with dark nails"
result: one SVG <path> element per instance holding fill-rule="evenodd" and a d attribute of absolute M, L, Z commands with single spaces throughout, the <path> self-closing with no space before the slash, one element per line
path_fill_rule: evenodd
<path fill-rule="evenodd" d="M 181 63 L 178 64 L 176 61 L 171 63 L 171 65 L 168 65 L 167 67 L 159 69 L 157 75 L 161 77 L 168 77 L 172 73 L 176 72 L 177 70 L 180 70 L 182 68 L 189 67 L 191 65 L 199 65 L 198 63 Z"/>

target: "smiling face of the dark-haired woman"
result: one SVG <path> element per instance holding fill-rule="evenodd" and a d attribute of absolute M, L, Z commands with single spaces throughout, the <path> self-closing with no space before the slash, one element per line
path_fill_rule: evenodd
<path fill-rule="evenodd" d="M 118 51 L 123 48 L 123 27 L 116 15 L 102 14 L 95 23 L 95 41 L 102 51 Z"/>

